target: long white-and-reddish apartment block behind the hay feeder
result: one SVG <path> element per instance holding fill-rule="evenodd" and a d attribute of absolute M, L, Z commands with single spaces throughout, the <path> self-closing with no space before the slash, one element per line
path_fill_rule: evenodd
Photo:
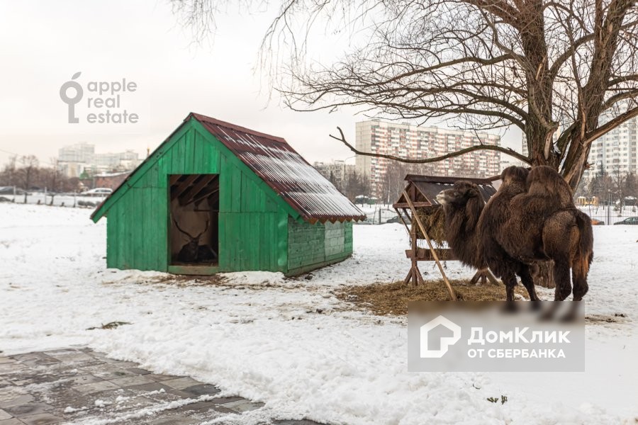
<path fill-rule="evenodd" d="M 360 151 L 413 159 L 438 157 L 480 143 L 496 146 L 500 144 L 500 136 L 486 132 L 420 127 L 381 120 L 357 123 L 356 132 L 356 146 Z M 357 170 L 369 176 L 376 196 L 381 192 L 388 176 L 388 166 L 392 163 L 385 158 L 357 155 Z M 500 171 L 500 152 L 477 150 L 441 162 L 423 164 L 415 171 L 437 176 L 495 176 Z"/>

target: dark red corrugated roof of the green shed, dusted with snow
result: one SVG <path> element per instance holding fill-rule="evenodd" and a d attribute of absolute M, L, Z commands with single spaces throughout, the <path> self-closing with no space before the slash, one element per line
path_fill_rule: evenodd
<path fill-rule="evenodd" d="M 191 113 L 304 220 L 365 220 L 365 214 L 308 164 L 286 140 Z"/>

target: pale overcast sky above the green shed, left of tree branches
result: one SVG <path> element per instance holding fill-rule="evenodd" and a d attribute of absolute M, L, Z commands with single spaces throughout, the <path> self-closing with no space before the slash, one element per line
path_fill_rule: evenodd
<path fill-rule="evenodd" d="M 310 162 L 352 157 L 328 135 L 339 125 L 354 142 L 354 123 L 363 115 L 286 110 L 277 99 L 269 101 L 268 86 L 254 74 L 273 14 L 231 8 L 218 19 L 212 42 L 197 44 L 164 0 L 1 1 L 0 164 L 11 154 L 35 154 L 47 163 L 57 149 L 76 142 L 94 143 L 96 152 L 145 154 L 191 111 L 284 137 Z M 349 46 L 331 40 L 315 48 L 328 47 L 338 55 Z M 60 86 L 76 72 L 84 87 L 76 106 L 80 119 L 103 112 L 86 106 L 90 81 L 126 79 L 137 90 L 121 94 L 121 109 L 138 113 L 139 123 L 69 124 Z M 504 139 L 520 149 L 520 132 Z"/>

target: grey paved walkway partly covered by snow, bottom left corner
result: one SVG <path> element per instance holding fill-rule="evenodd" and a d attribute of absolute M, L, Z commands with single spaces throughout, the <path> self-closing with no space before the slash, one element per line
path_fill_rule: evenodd
<path fill-rule="evenodd" d="M 236 422 L 241 421 L 237 414 L 263 406 L 242 397 L 218 397 L 213 385 L 138 366 L 87 348 L 0 356 L 0 425 L 183 425 L 224 416 Z"/>

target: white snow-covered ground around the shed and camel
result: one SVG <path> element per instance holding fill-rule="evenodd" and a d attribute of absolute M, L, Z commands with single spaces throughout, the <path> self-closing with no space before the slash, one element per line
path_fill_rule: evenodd
<path fill-rule="evenodd" d="M 402 279 L 401 225 L 355 226 L 355 252 L 312 280 L 230 273 L 223 285 L 105 268 L 89 210 L 0 204 L 0 350 L 88 345 L 156 373 L 265 402 L 249 416 L 335 424 L 633 424 L 638 226 L 595 227 L 585 373 L 408 373 L 403 319 L 352 311 L 345 284 Z M 452 277 L 472 272 L 449 262 Z M 424 267 L 432 278 L 434 268 Z M 542 296 L 550 299 L 549 291 Z M 86 330 L 103 323 L 132 324 Z M 480 389 L 476 389 L 476 387 Z M 493 404 L 487 397 L 506 395 Z M 246 419 L 246 418 L 245 418 Z"/>

